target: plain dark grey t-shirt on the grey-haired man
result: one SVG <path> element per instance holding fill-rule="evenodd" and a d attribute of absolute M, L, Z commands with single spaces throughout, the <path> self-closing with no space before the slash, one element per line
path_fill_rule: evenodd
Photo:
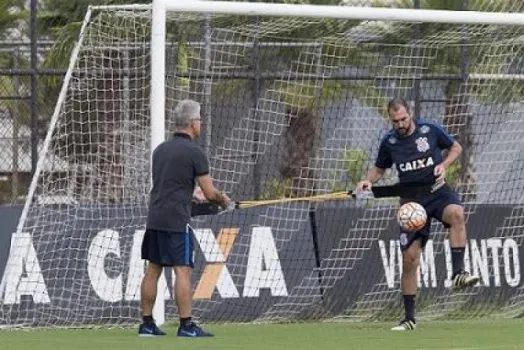
<path fill-rule="evenodd" d="M 204 151 L 188 135 L 176 133 L 153 152 L 152 173 L 146 228 L 185 232 L 196 177 L 209 173 Z"/>

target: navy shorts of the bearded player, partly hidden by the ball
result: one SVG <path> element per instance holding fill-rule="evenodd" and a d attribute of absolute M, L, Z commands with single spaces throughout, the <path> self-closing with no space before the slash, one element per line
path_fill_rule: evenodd
<path fill-rule="evenodd" d="M 402 229 L 400 230 L 400 249 L 402 251 L 408 249 L 417 239 L 420 239 L 420 244 L 422 248 L 424 248 L 429 239 L 431 219 L 437 219 L 444 225 L 444 227 L 449 228 L 449 225 L 442 219 L 442 216 L 444 215 L 444 209 L 450 204 L 462 205 L 457 193 L 453 191 L 448 185 L 444 185 L 436 192 L 422 198 L 403 198 L 401 199 L 400 204 L 412 201 L 421 204 L 426 209 L 428 220 L 426 225 L 420 231 L 404 232 Z"/>

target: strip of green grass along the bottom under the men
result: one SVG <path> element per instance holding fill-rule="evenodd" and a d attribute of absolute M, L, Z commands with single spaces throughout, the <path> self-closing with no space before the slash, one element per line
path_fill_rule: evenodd
<path fill-rule="evenodd" d="M 391 323 L 208 325 L 215 338 L 184 339 L 167 327 L 163 338 L 138 338 L 135 329 L 0 331 L 2 350 L 175 349 L 523 349 L 524 320 L 427 322 L 414 332 L 391 332 Z"/>

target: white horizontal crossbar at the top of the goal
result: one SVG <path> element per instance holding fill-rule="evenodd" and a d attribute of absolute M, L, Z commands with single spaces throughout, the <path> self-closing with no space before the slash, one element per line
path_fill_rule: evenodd
<path fill-rule="evenodd" d="M 260 2 L 154 0 L 153 6 L 173 12 L 198 12 L 246 16 L 282 16 L 377 21 L 456 24 L 523 25 L 524 13 L 401 9 Z"/>

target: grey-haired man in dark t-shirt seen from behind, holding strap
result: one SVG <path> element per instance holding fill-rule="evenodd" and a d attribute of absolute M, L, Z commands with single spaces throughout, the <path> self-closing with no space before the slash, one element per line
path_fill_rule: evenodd
<path fill-rule="evenodd" d="M 177 335 L 210 337 L 191 318 L 193 241 L 189 226 L 193 197 L 201 194 L 211 202 L 227 208 L 229 197 L 216 190 L 209 176 L 204 151 L 193 140 L 200 135 L 200 104 L 183 100 L 175 108 L 173 139 L 160 144 L 153 152 L 153 187 L 149 198 L 146 232 L 142 242 L 142 259 L 149 264 L 141 285 L 143 323 L 140 336 L 165 333 L 153 320 L 157 283 L 165 266 L 173 267 L 175 300 L 180 315 Z M 195 188 L 198 182 L 199 188 Z M 202 193 L 200 193 L 200 191 Z"/>

